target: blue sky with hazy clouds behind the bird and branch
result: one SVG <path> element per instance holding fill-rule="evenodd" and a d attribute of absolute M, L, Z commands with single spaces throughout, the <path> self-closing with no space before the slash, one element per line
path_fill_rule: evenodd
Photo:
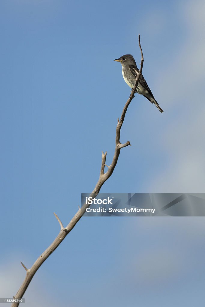
<path fill-rule="evenodd" d="M 20 261 L 30 267 L 57 235 L 53 212 L 67 225 L 93 190 L 102 150 L 111 163 L 130 94 L 113 59 L 131 53 L 139 64 L 139 33 L 164 113 L 135 96 L 121 133 L 132 147 L 101 192 L 204 192 L 204 9 L 1 1 L 1 297 L 17 292 Z M 83 218 L 35 275 L 25 307 L 204 305 L 204 232 L 203 218 Z"/>

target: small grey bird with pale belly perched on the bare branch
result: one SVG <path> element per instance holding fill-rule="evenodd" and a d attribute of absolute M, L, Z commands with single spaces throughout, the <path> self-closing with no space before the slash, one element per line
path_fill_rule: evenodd
<path fill-rule="evenodd" d="M 125 54 L 124 56 L 121 56 L 119 59 L 114 61 L 120 62 L 122 64 L 122 75 L 124 81 L 129 85 L 129 87 L 132 88 L 135 85 L 136 77 L 139 74 L 139 69 L 137 68 L 135 59 L 133 58 L 132 54 Z M 151 103 L 154 103 L 161 113 L 164 112 L 155 100 L 142 74 L 137 84 L 136 93 L 143 95 Z"/>

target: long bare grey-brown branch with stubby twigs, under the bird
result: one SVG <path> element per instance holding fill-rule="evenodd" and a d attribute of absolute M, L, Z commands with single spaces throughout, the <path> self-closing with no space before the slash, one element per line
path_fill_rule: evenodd
<path fill-rule="evenodd" d="M 135 86 L 132 88 L 132 93 L 131 93 L 129 99 L 127 100 L 127 102 L 125 103 L 125 106 L 124 106 L 123 111 L 122 111 L 121 118 L 120 118 L 120 120 L 117 119 L 116 138 L 115 138 L 115 153 L 114 153 L 114 157 L 112 159 L 112 163 L 111 163 L 110 166 L 108 166 L 108 171 L 106 173 L 104 173 L 104 167 L 106 165 L 105 161 L 106 161 L 107 152 L 105 152 L 105 153 L 102 152 L 102 163 L 101 163 L 100 178 L 99 178 L 93 192 L 91 193 L 92 197 L 97 196 L 97 194 L 100 192 L 100 189 L 101 189 L 102 185 L 104 184 L 104 182 L 106 180 L 108 180 L 108 178 L 112 175 L 112 173 L 115 169 L 115 166 L 117 164 L 118 157 L 120 155 L 120 149 L 130 145 L 129 141 L 127 141 L 124 144 L 120 143 L 120 129 L 121 129 L 122 124 L 124 122 L 124 117 L 125 117 L 126 111 L 128 109 L 128 106 L 131 103 L 131 101 L 134 97 L 134 94 L 136 92 L 136 87 L 137 87 L 138 81 L 140 79 L 140 74 L 142 72 L 144 58 L 143 58 L 142 48 L 141 48 L 141 45 L 140 45 L 140 35 L 138 37 L 138 41 L 139 41 L 139 46 L 140 46 L 140 51 L 141 51 L 140 71 L 139 71 L 139 74 L 136 78 Z M 57 237 L 53 241 L 53 243 L 51 243 L 51 245 L 39 256 L 39 258 L 34 262 L 33 266 L 29 270 L 22 264 L 22 266 L 25 268 L 27 274 L 26 274 L 26 278 L 24 279 L 21 287 L 19 288 L 18 292 L 15 295 L 15 299 L 22 298 L 22 296 L 25 293 L 27 287 L 29 286 L 32 278 L 34 277 L 34 274 L 39 269 L 41 264 L 49 257 L 49 255 L 51 255 L 53 253 L 53 251 L 55 251 L 55 249 L 58 247 L 58 245 L 65 239 L 66 235 L 73 229 L 73 227 L 80 220 L 81 216 L 85 213 L 86 208 L 88 208 L 88 207 L 89 207 L 89 204 L 84 204 L 81 207 L 81 209 L 79 209 L 78 212 L 73 216 L 72 220 L 70 221 L 70 223 L 65 228 L 63 227 L 63 224 L 61 223 L 61 220 L 59 219 L 59 217 L 54 213 L 55 217 L 57 218 L 57 220 L 58 220 L 58 222 L 61 226 L 61 231 L 59 232 L 59 234 L 57 235 Z M 19 305 L 19 303 L 12 303 L 11 307 L 17 307 L 18 305 Z"/>

